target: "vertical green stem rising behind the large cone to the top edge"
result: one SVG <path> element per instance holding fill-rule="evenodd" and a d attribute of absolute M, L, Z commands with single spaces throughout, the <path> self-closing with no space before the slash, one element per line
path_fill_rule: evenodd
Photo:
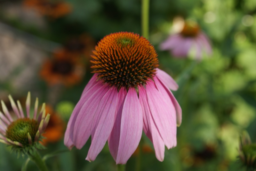
<path fill-rule="evenodd" d="M 149 0 L 142 0 L 141 4 L 142 36 L 148 39 L 149 33 Z"/>

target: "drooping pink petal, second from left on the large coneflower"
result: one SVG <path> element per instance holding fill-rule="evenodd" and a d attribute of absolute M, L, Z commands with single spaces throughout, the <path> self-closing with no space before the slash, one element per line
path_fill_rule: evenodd
<path fill-rule="evenodd" d="M 85 101 L 83 107 L 79 111 L 76 117 L 76 122 L 73 125 L 73 143 L 77 149 L 81 149 L 90 137 L 92 119 L 94 115 L 98 115 L 95 112 L 98 108 L 100 100 L 107 93 L 108 89 L 108 85 L 102 85 L 99 89 L 95 89 L 95 87 L 92 88 L 90 91 L 94 93 Z M 83 98 L 87 97 L 83 96 Z"/>

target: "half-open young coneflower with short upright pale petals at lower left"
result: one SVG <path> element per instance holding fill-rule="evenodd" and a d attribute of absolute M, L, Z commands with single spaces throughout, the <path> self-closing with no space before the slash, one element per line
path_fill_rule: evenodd
<path fill-rule="evenodd" d="M 36 99 L 34 114 L 30 115 L 29 92 L 26 100 L 26 114 L 23 113 L 19 100 L 18 106 L 11 95 L 9 95 L 9 100 L 14 113 L 10 113 L 5 103 L 1 101 L 3 113 L 0 111 L 0 142 L 11 145 L 13 150 L 22 154 L 29 153 L 36 148 L 41 149 L 43 146 L 38 142 L 50 119 L 49 114 L 45 115 L 45 104 L 38 113 L 38 99 Z"/>

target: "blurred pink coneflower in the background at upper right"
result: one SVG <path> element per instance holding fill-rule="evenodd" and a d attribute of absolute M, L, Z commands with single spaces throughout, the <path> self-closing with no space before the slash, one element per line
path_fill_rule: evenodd
<path fill-rule="evenodd" d="M 195 21 L 188 20 L 184 23 L 180 33 L 170 35 L 167 40 L 160 44 L 161 50 L 170 50 L 174 57 L 191 56 L 200 60 L 203 55 L 211 55 L 212 48 L 205 33 Z"/>

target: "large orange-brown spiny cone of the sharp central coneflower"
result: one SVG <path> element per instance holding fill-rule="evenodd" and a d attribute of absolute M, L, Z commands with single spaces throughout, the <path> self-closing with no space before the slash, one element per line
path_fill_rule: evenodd
<path fill-rule="evenodd" d="M 93 73 L 105 83 L 122 86 L 146 84 L 156 74 L 155 48 L 139 34 L 120 32 L 105 36 L 93 51 Z"/>

